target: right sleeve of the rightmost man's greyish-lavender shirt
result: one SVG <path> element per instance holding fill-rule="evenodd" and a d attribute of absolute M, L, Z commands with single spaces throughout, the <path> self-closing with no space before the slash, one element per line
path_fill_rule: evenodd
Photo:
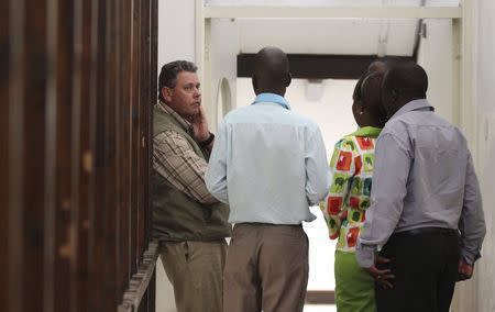
<path fill-rule="evenodd" d="M 461 232 L 461 256 L 468 264 L 474 264 L 481 255 L 481 246 L 486 234 L 480 185 L 474 172 L 471 153 L 468 155 L 464 201 L 459 221 Z"/>

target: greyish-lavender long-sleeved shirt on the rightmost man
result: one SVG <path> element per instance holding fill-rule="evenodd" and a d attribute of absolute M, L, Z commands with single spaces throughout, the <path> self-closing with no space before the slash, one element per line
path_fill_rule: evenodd
<path fill-rule="evenodd" d="M 461 256 L 480 257 L 486 229 L 466 140 L 426 100 L 404 105 L 380 134 L 371 196 L 356 246 L 362 267 L 393 233 L 427 226 L 460 230 Z"/>

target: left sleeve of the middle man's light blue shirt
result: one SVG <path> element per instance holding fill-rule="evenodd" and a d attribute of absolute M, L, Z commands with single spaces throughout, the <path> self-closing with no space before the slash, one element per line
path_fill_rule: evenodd
<path fill-rule="evenodd" d="M 212 196 L 221 202 L 229 203 L 227 189 L 227 126 L 224 123 L 220 125 L 217 132 L 205 180 Z"/>

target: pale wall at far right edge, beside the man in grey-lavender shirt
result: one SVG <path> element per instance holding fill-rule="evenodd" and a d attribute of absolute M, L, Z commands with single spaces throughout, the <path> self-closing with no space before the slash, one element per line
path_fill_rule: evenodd
<path fill-rule="evenodd" d="M 480 179 L 486 221 L 486 237 L 483 244 L 482 258 L 476 263 L 473 280 L 461 283 L 459 290 L 459 310 L 495 311 L 495 1 L 472 1 L 474 12 L 474 79 L 473 103 L 476 140 L 476 172 Z"/>

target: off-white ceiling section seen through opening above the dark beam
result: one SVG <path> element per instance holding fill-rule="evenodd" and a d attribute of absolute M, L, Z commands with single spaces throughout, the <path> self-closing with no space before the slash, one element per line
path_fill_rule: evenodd
<path fill-rule="evenodd" d="M 240 52 L 278 46 L 292 54 L 411 56 L 417 20 L 242 20 Z"/>

